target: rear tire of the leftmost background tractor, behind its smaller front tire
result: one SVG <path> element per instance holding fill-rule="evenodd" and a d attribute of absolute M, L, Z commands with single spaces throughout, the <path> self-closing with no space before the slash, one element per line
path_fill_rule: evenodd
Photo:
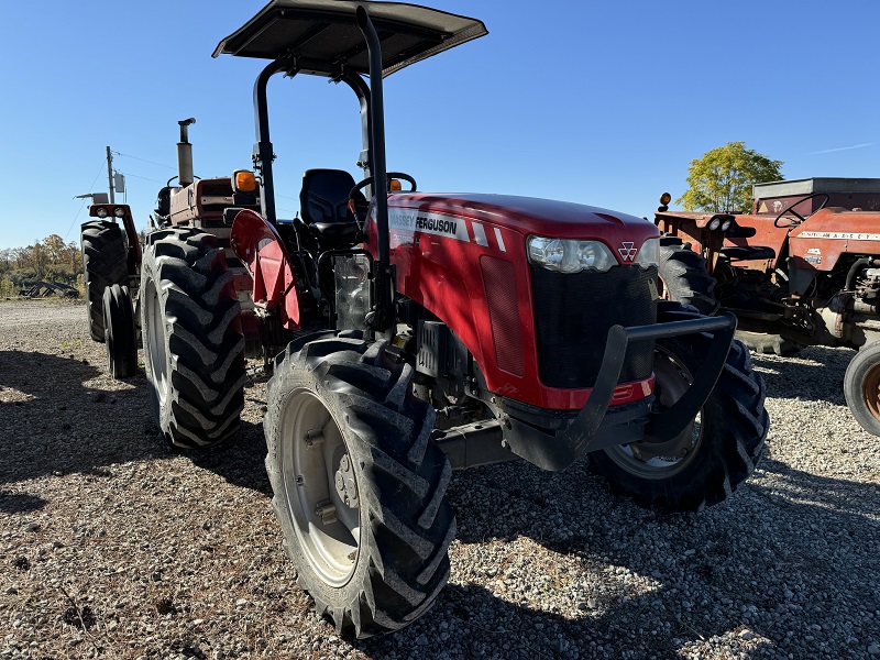
<path fill-rule="evenodd" d="M 114 284 L 128 284 L 129 251 L 122 229 L 106 220 L 84 222 L 79 241 L 86 275 L 89 332 L 95 341 L 103 341 L 103 292 Z"/>

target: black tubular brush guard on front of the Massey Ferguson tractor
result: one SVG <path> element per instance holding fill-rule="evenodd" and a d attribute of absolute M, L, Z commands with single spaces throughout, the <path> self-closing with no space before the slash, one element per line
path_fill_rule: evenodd
<path fill-rule="evenodd" d="M 714 336 L 712 344 L 691 386 L 670 408 L 650 413 L 642 429 L 645 436 L 650 436 L 659 442 L 674 438 L 693 421 L 715 387 L 727 360 L 735 331 L 736 317 L 732 314 L 630 328 L 613 326 L 605 341 L 605 358 L 602 360 L 595 385 L 578 416 L 570 425 L 551 432 L 532 425 L 516 424 L 517 432 L 512 433 L 509 438 L 512 449 L 539 468 L 558 471 L 574 463 L 584 452 L 632 441 L 628 438 L 628 433 L 619 433 L 615 441 L 614 426 L 608 428 L 603 425 L 620 377 L 629 342 L 707 332 Z M 625 407 L 622 407 L 622 413 L 623 408 Z M 629 424 L 632 420 L 620 421 Z M 612 431 L 610 436 L 608 431 Z"/>

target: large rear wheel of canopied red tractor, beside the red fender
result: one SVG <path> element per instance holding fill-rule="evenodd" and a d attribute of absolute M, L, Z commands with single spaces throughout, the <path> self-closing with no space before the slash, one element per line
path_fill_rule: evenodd
<path fill-rule="evenodd" d="M 150 234 L 141 268 L 141 334 L 153 409 L 175 447 L 217 444 L 244 408 L 241 305 L 217 239 L 193 229 Z"/>

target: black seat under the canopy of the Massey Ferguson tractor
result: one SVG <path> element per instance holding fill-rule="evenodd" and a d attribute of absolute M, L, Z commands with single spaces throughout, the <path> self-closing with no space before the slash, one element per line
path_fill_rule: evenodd
<path fill-rule="evenodd" d="M 358 223 L 348 206 L 352 188 L 354 178 L 342 169 L 307 169 L 302 175 L 299 209 L 319 242 L 354 241 Z"/>

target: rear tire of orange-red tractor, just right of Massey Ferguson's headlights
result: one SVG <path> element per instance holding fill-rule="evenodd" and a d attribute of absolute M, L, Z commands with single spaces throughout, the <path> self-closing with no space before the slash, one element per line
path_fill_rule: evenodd
<path fill-rule="evenodd" d="M 660 297 L 695 307 L 712 316 L 718 310 L 715 278 L 706 270 L 706 260 L 684 246 L 676 237 L 660 237 L 658 273 Z"/>

